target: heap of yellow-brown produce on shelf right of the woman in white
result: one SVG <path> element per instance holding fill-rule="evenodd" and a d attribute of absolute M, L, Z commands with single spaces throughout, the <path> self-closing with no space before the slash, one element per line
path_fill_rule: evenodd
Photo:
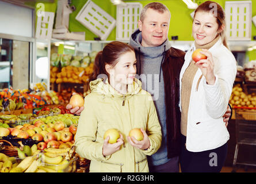
<path fill-rule="evenodd" d="M 230 105 L 231 107 L 239 106 L 239 107 L 249 107 L 256 108 L 256 94 L 245 94 L 243 92 L 240 84 L 235 85 L 232 89 L 231 97 L 230 97 Z"/>

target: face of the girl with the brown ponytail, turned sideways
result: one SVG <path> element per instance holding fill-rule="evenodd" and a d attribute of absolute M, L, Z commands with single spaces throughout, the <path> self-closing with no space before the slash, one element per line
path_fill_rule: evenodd
<path fill-rule="evenodd" d="M 107 70 L 108 71 L 108 70 Z M 124 53 L 119 57 L 116 66 L 110 68 L 110 85 L 120 87 L 133 83 L 136 74 L 136 57 L 133 51 Z"/>

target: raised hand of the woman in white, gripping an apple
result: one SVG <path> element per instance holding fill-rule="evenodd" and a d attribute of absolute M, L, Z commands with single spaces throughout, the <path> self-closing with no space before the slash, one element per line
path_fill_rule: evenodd
<path fill-rule="evenodd" d="M 213 72 L 214 64 L 212 59 L 212 53 L 209 52 L 207 49 L 202 49 L 200 53 L 207 56 L 207 59 L 201 59 L 195 64 L 202 71 L 202 75 L 204 75 L 208 85 L 213 85 L 216 78 Z"/>

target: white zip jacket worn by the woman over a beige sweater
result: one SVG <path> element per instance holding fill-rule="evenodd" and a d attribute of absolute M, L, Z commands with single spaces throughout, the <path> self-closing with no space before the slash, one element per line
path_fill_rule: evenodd
<path fill-rule="evenodd" d="M 182 76 L 192 60 L 194 44 L 185 55 L 179 78 L 179 93 L 181 97 Z M 214 85 L 207 85 L 204 76 L 196 86 L 202 72 L 198 68 L 194 76 L 188 110 L 188 127 L 186 148 L 192 152 L 212 150 L 225 144 L 230 135 L 223 122 L 236 76 L 236 60 L 232 52 L 222 43 L 221 38 L 209 51 L 214 62 Z M 181 102 L 179 108 L 182 110 Z M 200 123 L 198 123 L 200 122 Z"/>

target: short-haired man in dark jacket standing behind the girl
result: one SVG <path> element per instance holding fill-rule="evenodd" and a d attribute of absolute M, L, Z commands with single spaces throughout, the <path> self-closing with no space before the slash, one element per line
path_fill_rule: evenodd
<path fill-rule="evenodd" d="M 135 49 L 137 74 L 142 88 L 152 94 L 162 128 L 161 148 L 148 156 L 150 172 L 179 172 L 180 118 L 179 72 L 185 52 L 171 47 L 168 40 L 170 11 L 158 2 L 144 6 L 138 21 L 139 29 L 130 38 Z M 72 106 L 67 105 L 67 109 Z M 82 108 L 71 109 L 80 114 Z M 230 111 L 226 112 L 228 121 Z"/>

